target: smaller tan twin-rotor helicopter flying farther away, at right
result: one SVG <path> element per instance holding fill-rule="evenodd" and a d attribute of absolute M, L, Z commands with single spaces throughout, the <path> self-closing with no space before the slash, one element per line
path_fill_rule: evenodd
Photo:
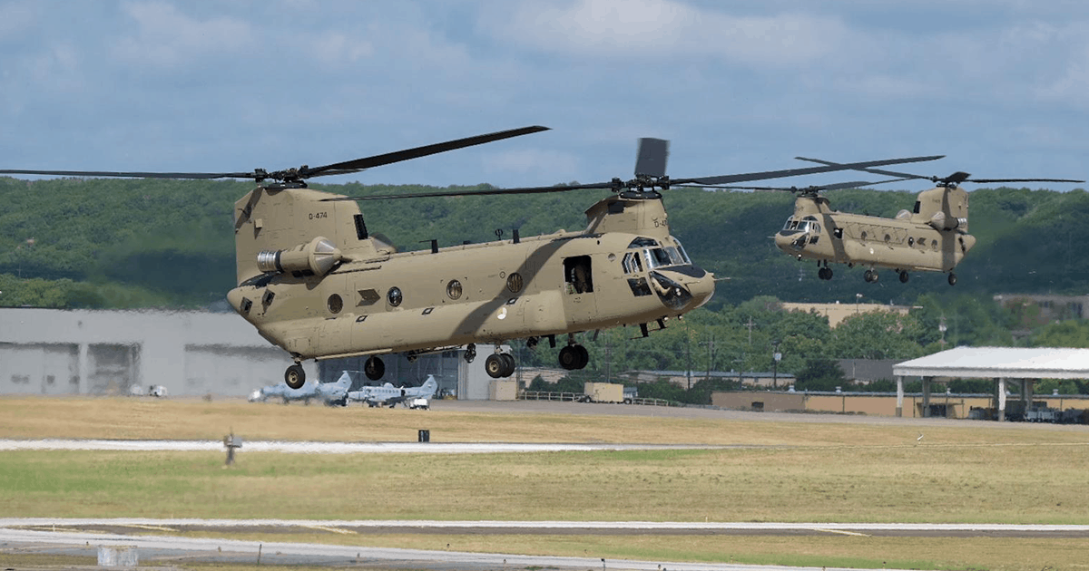
<path fill-rule="evenodd" d="M 803 161 L 827 166 L 831 161 L 797 157 Z M 877 282 L 876 268 L 896 272 L 901 283 L 907 283 L 913 271 L 947 273 L 950 285 L 956 284 L 953 270 L 976 244 L 968 234 L 968 193 L 960 183 L 1082 183 L 1068 178 L 969 178 L 956 172 L 944 178 L 860 167 L 856 171 L 894 176 L 873 183 L 855 182 L 806 188 L 746 187 L 761 190 L 788 190 L 797 195 L 794 214 L 775 234 L 775 246 L 800 260 L 817 260 L 817 276 L 832 278 L 829 262 L 866 266 L 866 282 Z M 839 212 L 831 209 L 824 190 L 858 188 L 900 181 L 927 179 L 937 186 L 919 193 L 911 211 L 901 210 L 888 219 L 866 214 Z M 738 188 L 738 187 L 734 187 Z"/>

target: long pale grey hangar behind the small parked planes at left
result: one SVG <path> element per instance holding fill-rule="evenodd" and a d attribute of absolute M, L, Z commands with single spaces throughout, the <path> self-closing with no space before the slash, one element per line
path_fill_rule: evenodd
<path fill-rule="evenodd" d="M 442 394 L 491 398 L 495 383 L 485 360 L 466 363 L 463 352 L 413 362 L 384 356 L 380 383 L 414 386 L 435 374 Z M 306 361 L 303 368 L 308 378 L 331 382 L 342 370 L 360 371 L 365 360 Z M 0 395 L 131 395 L 161 385 L 171 396 L 241 397 L 282 383 L 290 364 L 286 351 L 234 313 L 0 308 Z"/>

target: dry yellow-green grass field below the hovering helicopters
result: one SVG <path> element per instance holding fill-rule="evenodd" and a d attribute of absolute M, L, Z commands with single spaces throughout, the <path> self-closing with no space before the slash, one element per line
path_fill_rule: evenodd
<path fill-rule="evenodd" d="M 919 429 L 909 423 L 0 399 L 4 438 L 219 439 L 233 429 L 247 440 L 404 442 L 425 427 L 432 442 L 743 446 L 495 455 L 243 451 L 231 469 L 223 468 L 221 452 L 8 451 L 0 452 L 0 513 L 1089 524 L 1089 430 L 1082 426 L 930 421 L 917 443 Z M 371 534 L 299 539 L 829 567 L 1089 569 L 1084 539 Z"/>

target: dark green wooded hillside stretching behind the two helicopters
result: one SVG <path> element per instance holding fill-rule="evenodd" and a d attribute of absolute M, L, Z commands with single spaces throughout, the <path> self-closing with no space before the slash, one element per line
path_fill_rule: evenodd
<path fill-rule="evenodd" d="M 926 185 L 922 185 L 923 187 Z M 199 307 L 234 286 L 231 208 L 252 183 L 162 179 L 0 177 L 0 306 Z M 347 195 L 436 190 L 413 186 L 315 185 Z M 451 190 L 453 188 L 450 188 Z M 828 194 L 841 211 L 892 216 L 910 209 L 917 191 L 841 190 Z M 867 300 L 911 303 L 920 294 L 1084 293 L 1089 260 L 1089 195 L 1029 189 L 972 190 L 969 227 L 977 246 L 951 288 L 941 274 L 917 273 L 908 284 L 885 272 L 877 284 L 861 270 L 835 266 L 817 278 L 812 262 L 775 249 L 771 236 L 793 211 L 786 193 L 664 193 L 673 234 L 721 283 L 713 307 L 758 295 L 785 301 Z M 585 226 L 583 211 L 600 190 L 516 197 L 462 197 L 362 203 L 367 226 L 400 249 L 495 239 Z M 2 275 L 7 274 L 7 275 Z M 33 281 L 27 281 L 35 278 Z M 45 296 L 45 297 L 42 297 Z M 51 302 L 44 302 L 49 299 Z"/>

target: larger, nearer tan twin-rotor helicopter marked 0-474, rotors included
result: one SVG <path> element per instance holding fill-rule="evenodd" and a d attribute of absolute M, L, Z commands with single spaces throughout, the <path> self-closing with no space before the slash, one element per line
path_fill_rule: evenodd
<path fill-rule="evenodd" d="M 235 202 L 237 287 L 231 306 L 266 339 L 291 353 L 284 380 L 299 387 L 306 359 L 370 356 L 365 373 L 381 378 L 381 356 L 409 358 L 476 344 L 494 347 L 485 369 L 513 374 L 504 342 L 546 338 L 560 350 L 560 365 L 586 367 L 589 356 L 575 334 L 621 325 L 662 328 L 707 302 L 714 276 L 692 263 L 670 235 L 657 189 L 797 176 L 933 160 L 891 159 L 702 178 L 665 176 L 668 141 L 641 139 L 635 178 L 572 186 L 345 197 L 307 188 L 315 176 L 346 174 L 546 131 L 525 127 L 468 137 L 319 167 L 252 173 L 121 173 L 0 171 L 9 174 L 156 178 L 252 178 L 260 186 Z M 370 236 L 357 201 L 441 196 L 535 194 L 609 189 L 586 210 L 580 232 L 556 232 L 486 244 L 397 252 Z"/>

